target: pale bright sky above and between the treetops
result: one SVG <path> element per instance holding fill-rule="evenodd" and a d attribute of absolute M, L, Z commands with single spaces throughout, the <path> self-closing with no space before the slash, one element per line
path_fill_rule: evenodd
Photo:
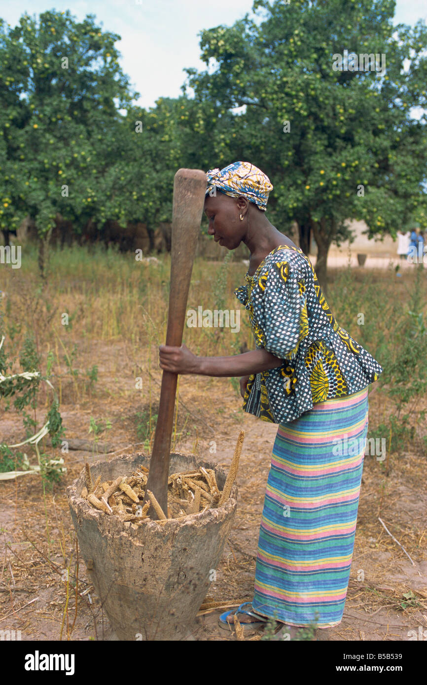
<path fill-rule="evenodd" d="M 19 17 L 46 10 L 71 10 L 82 21 L 95 14 L 103 30 L 117 33 L 120 64 L 138 105 L 153 107 L 159 97 L 178 97 L 185 67 L 206 69 L 199 59 L 198 32 L 232 25 L 252 8 L 252 0 L 0 0 L 0 17 L 15 25 Z M 395 23 L 427 22 L 427 0 L 397 0 Z"/>

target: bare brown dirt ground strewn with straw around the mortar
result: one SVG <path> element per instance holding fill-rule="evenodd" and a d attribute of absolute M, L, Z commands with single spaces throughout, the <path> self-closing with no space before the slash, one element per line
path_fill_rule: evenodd
<path fill-rule="evenodd" d="M 75 534 L 65 488 L 80 473 L 85 460 L 93 463 L 114 456 L 113 452 L 143 451 L 141 443 L 137 444 L 135 414 L 147 406 L 148 391 L 145 386 L 140 401 L 135 401 L 135 391 L 129 389 L 135 360 L 127 355 L 125 344 L 92 345 L 86 354 L 88 360 L 93 359 L 96 350 L 99 360 L 95 393 L 84 403 L 75 403 L 73 386 L 71 382 L 66 385 L 64 370 L 60 413 L 65 439 L 69 440 L 93 440 L 93 433 L 88 432 L 90 416 L 110 419 L 112 428 L 99 437 L 101 443 L 110 445 L 110 453 L 103 456 L 93 450 L 70 450 L 62 454 L 66 475 L 60 485 L 53 486 L 52 493 L 47 491 L 46 508 L 38 475 L 0 483 L 0 630 L 20 630 L 22 640 L 114 640 L 108 618 L 88 584 L 82 558 L 78 559 L 75 601 Z M 119 378 L 111 371 L 118 356 L 123 361 Z M 136 361 L 144 370 L 144 360 Z M 84 368 L 86 359 L 79 362 Z M 160 373 L 154 365 L 151 391 L 155 412 Z M 374 386 L 371 388 L 369 419 L 373 421 L 384 400 Z M 219 627 L 218 616 L 226 608 L 252 599 L 260 517 L 277 425 L 245 414 L 241 403 L 230 379 L 180 377 L 180 439 L 173 451 L 215 460 L 227 471 L 239 431 L 245 431 L 236 518 L 217 578 L 188 639 L 236 640 L 234 629 Z M 37 418 L 42 425 L 41 411 Z M 0 414 L 0 425 L 6 443 L 23 439 L 21 421 L 13 412 Z M 210 451 L 214 447 L 216 451 Z M 58 456 L 52 448 L 46 451 Z M 28 453 L 34 460 L 34 454 Z M 317 631 L 317 639 L 399 641 L 411 636 L 423 639 L 420 636 L 424 634 L 427 639 L 425 462 L 425 455 L 404 453 L 391 459 L 386 476 L 375 457 L 365 458 L 343 621 L 337 627 Z M 63 571 L 67 566 L 71 569 L 68 601 Z M 261 635 L 259 631 L 245 632 L 244 638 L 258 640 Z"/>

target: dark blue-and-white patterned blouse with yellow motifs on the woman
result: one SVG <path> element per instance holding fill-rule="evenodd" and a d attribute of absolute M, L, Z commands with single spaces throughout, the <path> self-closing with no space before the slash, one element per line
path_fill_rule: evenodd
<path fill-rule="evenodd" d="M 382 367 L 335 321 L 302 249 L 276 247 L 245 280 L 234 294 L 249 312 L 256 347 L 283 360 L 249 377 L 245 412 L 287 423 L 378 379 Z"/>

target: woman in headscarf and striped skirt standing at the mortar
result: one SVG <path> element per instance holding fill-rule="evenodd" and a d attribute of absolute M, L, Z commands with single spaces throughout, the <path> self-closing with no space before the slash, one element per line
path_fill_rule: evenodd
<path fill-rule="evenodd" d="M 367 386 L 382 368 L 335 321 L 310 260 L 265 215 L 273 186 L 248 162 L 207 173 L 208 233 L 251 253 L 235 295 L 256 349 L 195 356 L 160 345 L 160 368 L 241 377 L 243 410 L 278 423 L 243 625 L 340 623 L 350 577 L 367 436 Z M 247 607 L 247 609 L 245 609 Z M 228 612 L 230 614 L 232 612 Z M 221 620 L 225 623 L 228 614 Z"/>

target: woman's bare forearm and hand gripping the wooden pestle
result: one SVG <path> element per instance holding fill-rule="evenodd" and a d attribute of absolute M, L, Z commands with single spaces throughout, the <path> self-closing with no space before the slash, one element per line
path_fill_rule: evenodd
<path fill-rule="evenodd" d="M 186 345 L 160 345 L 159 358 L 160 369 L 164 371 L 217 377 L 239 377 L 276 369 L 283 364 L 282 359 L 265 349 L 254 349 L 231 357 L 197 357 Z"/>

